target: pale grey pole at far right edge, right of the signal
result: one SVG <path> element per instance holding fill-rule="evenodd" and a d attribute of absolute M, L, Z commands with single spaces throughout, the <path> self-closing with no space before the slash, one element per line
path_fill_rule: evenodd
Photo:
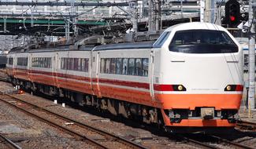
<path fill-rule="evenodd" d="M 256 0 L 250 0 L 249 2 L 249 95 L 248 95 L 248 107 L 255 109 L 255 19 L 254 19 L 254 7 L 253 4 Z M 250 115 L 249 115 L 250 116 Z"/>

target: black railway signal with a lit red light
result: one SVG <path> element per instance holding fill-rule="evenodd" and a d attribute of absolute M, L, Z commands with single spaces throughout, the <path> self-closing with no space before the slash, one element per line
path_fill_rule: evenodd
<path fill-rule="evenodd" d="M 229 0 L 225 5 L 225 20 L 228 27 L 236 27 L 240 20 L 240 4 L 236 0 Z"/>

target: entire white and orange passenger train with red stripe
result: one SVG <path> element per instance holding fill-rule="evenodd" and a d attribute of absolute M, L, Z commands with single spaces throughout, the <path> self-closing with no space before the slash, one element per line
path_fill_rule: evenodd
<path fill-rule="evenodd" d="M 167 129 L 233 128 L 243 51 L 223 27 L 167 28 L 156 42 L 13 50 L 15 85 Z"/>

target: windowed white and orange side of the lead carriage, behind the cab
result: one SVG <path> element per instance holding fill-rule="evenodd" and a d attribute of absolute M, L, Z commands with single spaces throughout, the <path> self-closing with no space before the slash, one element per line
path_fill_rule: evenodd
<path fill-rule="evenodd" d="M 95 51 L 93 67 L 96 69 L 98 60 L 98 70 L 93 70 L 92 77 L 95 80 L 94 90 L 98 90 L 97 95 L 161 107 L 150 94 L 150 53 L 150 49 Z M 147 66 L 147 71 L 135 67 L 136 64 L 143 66 L 143 62 L 144 66 Z M 119 64 L 121 66 L 118 66 Z"/>

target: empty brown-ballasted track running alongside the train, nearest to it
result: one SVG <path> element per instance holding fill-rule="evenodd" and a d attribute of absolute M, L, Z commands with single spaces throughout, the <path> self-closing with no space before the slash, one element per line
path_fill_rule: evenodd
<path fill-rule="evenodd" d="M 2 102 L 17 108 L 18 110 L 23 111 L 34 118 L 46 122 L 49 125 L 61 129 L 62 131 L 75 136 L 78 140 L 84 140 L 88 144 L 91 144 L 97 148 L 147 148 L 140 144 L 135 144 L 130 140 L 126 140 L 121 136 L 115 136 L 112 133 L 108 133 L 101 129 L 96 129 L 91 125 L 86 125 L 81 122 L 77 122 L 74 119 L 66 118 L 61 114 L 48 111 L 43 107 L 28 103 L 8 93 L 3 93 L 0 91 L 0 94 L 0 100 Z"/>

